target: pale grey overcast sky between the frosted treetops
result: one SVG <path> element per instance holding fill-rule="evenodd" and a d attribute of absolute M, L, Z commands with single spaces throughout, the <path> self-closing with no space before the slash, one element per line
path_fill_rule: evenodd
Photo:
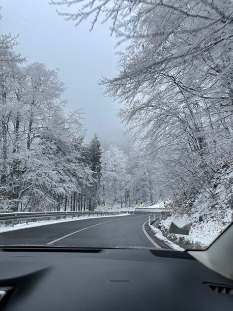
<path fill-rule="evenodd" d="M 89 32 L 87 21 L 75 28 L 56 12 L 56 8 L 65 12 L 67 7 L 51 6 L 48 0 L 0 0 L 0 6 L 0 32 L 19 34 L 17 51 L 27 56 L 28 63 L 42 62 L 58 70 L 67 88 L 67 111 L 84 108 L 87 141 L 96 133 L 103 143 L 124 145 L 120 134 L 124 127 L 116 117 L 120 105 L 104 97 L 104 88 L 96 83 L 101 76 L 117 74 L 115 53 L 119 49 L 115 49 L 117 39 L 110 37 L 109 25 L 99 23 Z"/>

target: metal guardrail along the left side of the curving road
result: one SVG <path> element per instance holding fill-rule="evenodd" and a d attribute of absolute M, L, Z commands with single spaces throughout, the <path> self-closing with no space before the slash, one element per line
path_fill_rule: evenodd
<path fill-rule="evenodd" d="M 40 220 L 51 220 L 61 218 L 80 218 L 84 216 L 116 216 L 121 214 L 134 214 L 134 212 L 100 212 L 100 211 L 82 211 L 82 212 L 19 212 L 19 213 L 1 213 L 0 224 L 14 226 L 21 222 L 34 222 Z"/>

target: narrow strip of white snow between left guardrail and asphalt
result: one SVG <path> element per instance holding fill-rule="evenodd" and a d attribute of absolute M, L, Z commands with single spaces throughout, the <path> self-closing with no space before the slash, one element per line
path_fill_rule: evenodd
<path fill-rule="evenodd" d="M 58 220 L 41 220 L 41 221 L 33 221 L 29 222 L 28 224 L 26 222 L 19 223 L 12 226 L 1 226 L 0 227 L 0 233 L 6 232 L 6 231 L 14 231 L 14 230 L 20 230 L 20 229 L 26 229 L 26 228 L 31 228 L 31 227 L 38 227 L 38 226 L 45 226 L 49 224 L 58 224 L 60 222 L 66 222 L 66 221 L 78 221 L 78 220 L 83 220 L 87 218 L 105 218 L 105 217 L 118 217 L 118 216 L 126 216 L 128 215 L 127 213 L 125 214 L 120 214 L 120 215 L 111 215 L 111 216 L 84 216 L 82 218 L 67 218 L 66 219 L 58 219 Z"/>

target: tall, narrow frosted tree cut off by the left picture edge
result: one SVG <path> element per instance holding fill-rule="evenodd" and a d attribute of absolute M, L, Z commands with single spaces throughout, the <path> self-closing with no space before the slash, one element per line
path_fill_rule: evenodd
<path fill-rule="evenodd" d="M 14 51 L 16 44 L 15 38 L 10 34 L 0 35 L 0 198 L 3 200 L 8 197 L 9 188 L 14 187 L 9 183 L 9 177 L 11 167 L 17 165 L 12 162 L 8 152 L 12 148 L 11 137 L 15 136 L 15 145 L 18 140 L 18 124 L 16 122 L 12 128 L 12 118 L 17 119 L 19 113 L 19 100 L 15 98 L 15 80 L 18 66 L 24 62 L 21 55 Z M 12 152 L 15 151 L 16 146 Z M 13 191 L 9 195 L 14 199 Z"/>

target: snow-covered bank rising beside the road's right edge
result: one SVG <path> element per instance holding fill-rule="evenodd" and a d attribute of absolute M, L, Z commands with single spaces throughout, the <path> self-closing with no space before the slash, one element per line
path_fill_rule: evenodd
<path fill-rule="evenodd" d="M 226 175 L 225 175 L 226 176 Z M 233 172 L 227 178 L 218 180 L 212 194 L 199 193 L 191 208 L 181 205 L 175 207 L 172 216 L 159 223 L 159 229 L 169 238 L 184 248 L 203 249 L 208 247 L 219 234 L 233 221 Z M 189 235 L 169 234 L 169 227 L 174 218 L 188 217 L 192 221 Z"/>

